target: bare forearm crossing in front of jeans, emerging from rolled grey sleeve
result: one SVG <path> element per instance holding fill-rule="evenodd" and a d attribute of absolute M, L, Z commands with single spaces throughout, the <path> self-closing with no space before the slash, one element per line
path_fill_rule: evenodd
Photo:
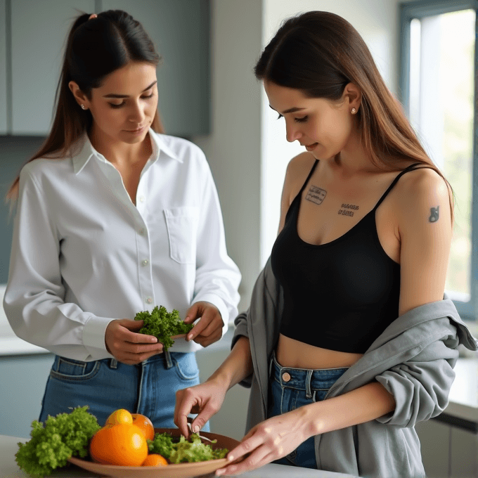
<path fill-rule="evenodd" d="M 297 408 L 306 435 L 332 432 L 375 420 L 395 409 L 395 400 L 378 382 L 372 382 L 346 394 Z"/>

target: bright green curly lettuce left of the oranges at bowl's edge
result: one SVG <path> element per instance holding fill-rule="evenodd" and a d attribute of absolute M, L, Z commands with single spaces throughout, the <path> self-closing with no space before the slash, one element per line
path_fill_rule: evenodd
<path fill-rule="evenodd" d="M 49 415 L 45 424 L 33 420 L 32 439 L 18 443 L 15 460 L 24 472 L 46 477 L 58 467 L 67 464 L 72 456 L 84 458 L 88 454 L 89 440 L 100 429 L 98 420 L 88 406 L 74 408 L 71 413 Z"/>

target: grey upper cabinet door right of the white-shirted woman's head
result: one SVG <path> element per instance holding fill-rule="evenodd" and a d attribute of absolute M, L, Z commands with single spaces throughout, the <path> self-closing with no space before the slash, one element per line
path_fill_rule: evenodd
<path fill-rule="evenodd" d="M 141 22 L 162 56 L 157 91 L 167 134 L 209 134 L 209 0 L 103 0 Z"/>

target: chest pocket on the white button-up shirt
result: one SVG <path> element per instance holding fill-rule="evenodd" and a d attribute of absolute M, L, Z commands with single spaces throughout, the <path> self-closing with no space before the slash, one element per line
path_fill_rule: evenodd
<path fill-rule="evenodd" d="M 194 206 L 164 209 L 169 255 L 179 264 L 194 264 L 199 208 Z"/>

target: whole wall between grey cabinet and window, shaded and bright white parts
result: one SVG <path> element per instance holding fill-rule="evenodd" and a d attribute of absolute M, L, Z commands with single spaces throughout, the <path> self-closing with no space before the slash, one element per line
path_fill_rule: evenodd
<path fill-rule="evenodd" d="M 303 150 L 285 140 L 252 69 L 280 22 L 309 10 L 349 20 L 398 89 L 399 0 L 212 0 L 212 134 L 193 141 L 211 164 L 228 252 L 243 273 L 240 310 L 276 238 L 285 167 Z"/>

